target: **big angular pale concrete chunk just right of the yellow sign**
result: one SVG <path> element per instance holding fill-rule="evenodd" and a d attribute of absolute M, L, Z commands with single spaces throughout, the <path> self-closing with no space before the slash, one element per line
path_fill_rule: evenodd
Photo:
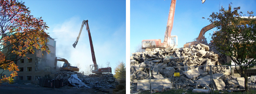
<path fill-rule="evenodd" d="M 202 73 L 204 73 L 204 70 L 199 67 L 183 72 L 183 74 L 185 74 L 189 79 L 196 78 Z"/>

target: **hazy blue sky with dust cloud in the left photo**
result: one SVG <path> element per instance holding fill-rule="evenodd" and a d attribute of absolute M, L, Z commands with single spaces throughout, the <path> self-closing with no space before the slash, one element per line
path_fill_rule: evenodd
<path fill-rule="evenodd" d="M 126 53 L 126 1 L 89 0 L 23 0 L 34 17 L 42 17 L 51 38 L 56 38 L 56 56 L 65 58 L 72 65 L 89 69 L 93 64 L 86 27 L 83 28 L 76 48 L 83 20 L 88 20 L 96 61 L 106 67 L 110 62 L 112 73 L 118 61 L 125 63 Z M 58 62 L 62 66 L 64 62 Z"/>

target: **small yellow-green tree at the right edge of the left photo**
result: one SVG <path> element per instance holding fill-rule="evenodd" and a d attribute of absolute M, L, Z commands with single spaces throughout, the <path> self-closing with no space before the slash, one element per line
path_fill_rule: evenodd
<path fill-rule="evenodd" d="M 123 61 L 118 61 L 118 64 L 114 70 L 115 70 L 114 77 L 117 80 L 125 80 L 126 67 Z"/>

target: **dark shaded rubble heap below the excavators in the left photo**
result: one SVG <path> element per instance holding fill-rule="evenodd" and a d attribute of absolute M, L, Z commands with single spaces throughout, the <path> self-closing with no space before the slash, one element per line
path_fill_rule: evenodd
<path fill-rule="evenodd" d="M 106 74 L 100 77 L 89 77 L 81 73 L 58 71 L 55 73 L 56 80 L 63 79 L 63 85 L 71 85 L 75 87 L 85 88 L 115 88 L 118 82 L 113 74 Z"/>

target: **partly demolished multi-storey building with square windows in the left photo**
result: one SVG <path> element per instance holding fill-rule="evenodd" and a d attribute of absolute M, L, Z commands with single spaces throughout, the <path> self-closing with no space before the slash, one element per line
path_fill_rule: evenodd
<path fill-rule="evenodd" d="M 46 51 L 35 50 L 32 54 L 28 52 L 26 56 L 17 61 L 18 77 L 15 82 L 32 82 L 38 83 L 39 78 L 48 76 L 54 77 L 54 60 L 56 57 L 56 41 L 49 37 L 47 46 L 51 51 L 49 54 Z"/>

